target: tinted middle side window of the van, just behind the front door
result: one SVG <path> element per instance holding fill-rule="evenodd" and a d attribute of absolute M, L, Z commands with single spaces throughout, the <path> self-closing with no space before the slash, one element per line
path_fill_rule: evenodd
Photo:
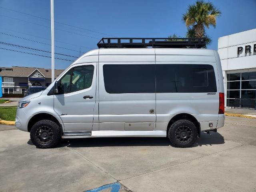
<path fill-rule="evenodd" d="M 118 93 L 155 93 L 155 64 L 105 64 L 105 90 Z"/>

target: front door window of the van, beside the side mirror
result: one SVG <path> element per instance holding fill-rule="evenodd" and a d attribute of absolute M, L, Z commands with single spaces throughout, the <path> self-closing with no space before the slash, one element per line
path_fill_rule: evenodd
<path fill-rule="evenodd" d="M 60 93 L 69 93 L 89 88 L 92 85 L 94 66 L 79 66 L 70 69 L 59 81 Z"/>

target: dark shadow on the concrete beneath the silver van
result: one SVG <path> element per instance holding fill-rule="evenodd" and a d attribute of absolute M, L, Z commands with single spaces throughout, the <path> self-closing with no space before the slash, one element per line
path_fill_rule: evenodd
<path fill-rule="evenodd" d="M 192 147 L 224 144 L 224 138 L 218 132 L 212 132 L 212 135 L 202 132 L 201 137 L 197 139 Z M 29 140 L 28 144 L 33 145 Z M 124 138 L 78 138 L 62 139 L 57 148 L 60 147 L 108 147 L 108 146 L 170 146 L 168 138 L 146 138 L 146 137 L 124 137 Z"/>

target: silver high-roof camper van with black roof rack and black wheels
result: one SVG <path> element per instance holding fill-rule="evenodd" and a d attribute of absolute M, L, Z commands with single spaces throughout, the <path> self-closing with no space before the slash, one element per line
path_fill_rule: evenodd
<path fill-rule="evenodd" d="M 38 148 L 90 137 L 168 137 L 184 148 L 224 126 L 220 58 L 200 48 L 205 39 L 113 39 L 20 100 L 15 125 Z"/>

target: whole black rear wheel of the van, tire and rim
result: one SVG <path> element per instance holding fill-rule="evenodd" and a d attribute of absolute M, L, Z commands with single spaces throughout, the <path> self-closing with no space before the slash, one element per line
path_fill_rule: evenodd
<path fill-rule="evenodd" d="M 196 142 L 196 126 L 189 120 L 178 120 L 170 126 L 168 138 L 174 147 L 190 147 Z"/>

